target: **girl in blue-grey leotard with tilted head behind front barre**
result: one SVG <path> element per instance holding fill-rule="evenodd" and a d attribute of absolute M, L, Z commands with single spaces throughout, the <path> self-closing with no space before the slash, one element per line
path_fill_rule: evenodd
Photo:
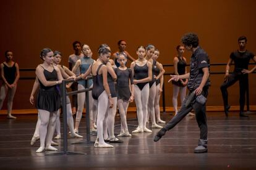
<path fill-rule="evenodd" d="M 82 52 L 83 52 L 83 57 L 75 63 L 75 66 L 73 67 L 72 71 L 75 73 L 78 68 L 80 68 L 80 73 L 84 74 L 90 65 L 92 65 L 95 60 L 92 59 L 92 51 L 90 47 L 87 44 L 83 44 L 82 46 Z M 85 87 L 85 80 L 80 80 L 78 81 L 78 90 L 83 90 L 89 87 L 93 87 L 93 80 L 88 79 L 87 81 L 87 87 Z M 89 100 L 90 100 L 90 105 L 89 110 L 90 110 L 90 129 L 92 132 L 96 132 L 96 129 L 94 128 L 94 123 L 96 121 L 96 110 L 95 107 L 93 107 L 93 98 L 92 98 L 92 91 L 89 91 Z M 85 92 L 77 94 L 77 115 L 75 117 L 75 132 L 79 132 L 79 124 L 82 118 L 82 113 L 83 113 L 83 107 L 85 105 Z"/>

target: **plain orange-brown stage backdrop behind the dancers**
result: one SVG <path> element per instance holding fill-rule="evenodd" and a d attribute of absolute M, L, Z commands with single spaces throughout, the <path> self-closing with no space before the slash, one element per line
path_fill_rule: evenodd
<path fill-rule="evenodd" d="M 226 63 L 237 49 L 237 38 L 248 38 L 247 49 L 256 53 L 256 20 L 254 0 L 195 1 L 2 1 L 0 6 L 0 55 L 14 52 L 20 68 L 35 68 L 42 61 L 44 47 L 61 51 L 62 64 L 68 65 L 73 53 L 72 42 L 88 44 L 97 59 L 96 49 L 102 43 L 117 51 L 117 41 L 125 39 L 127 51 L 137 58 L 138 46 L 154 44 L 160 50 L 159 62 L 173 63 L 176 46 L 184 33 L 197 33 L 200 46 L 208 52 L 211 63 Z M 190 61 L 190 53 L 185 57 Z M 129 62 L 130 64 L 130 62 Z M 224 71 L 225 67 L 211 67 Z M 172 73 L 173 68 L 166 68 Z M 21 77 L 33 77 L 32 71 L 22 71 Z M 222 105 L 220 85 L 224 75 L 211 75 L 208 105 Z M 250 104 L 256 105 L 255 74 L 250 75 Z M 173 87 L 164 76 L 166 105 L 172 105 Z M 14 109 L 35 108 L 29 103 L 32 80 L 18 83 Z M 238 83 L 229 89 L 231 105 L 239 105 Z M 134 104 L 132 104 L 134 106 Z M 4 109 L 6 105 L 4 106 Z"/>

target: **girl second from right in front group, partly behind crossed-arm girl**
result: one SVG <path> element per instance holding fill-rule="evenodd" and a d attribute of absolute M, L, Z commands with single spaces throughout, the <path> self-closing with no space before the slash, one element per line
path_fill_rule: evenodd
<path fill-rule="evenodd" d="M 164 70 L 163 67 L 160 67 L 159 63 L 156 62 L 155 60 L 151 59 L 155 52 L 155 46 L 148 44 L 146 47 L 146 57 L 145 59 L 148 60 L 148 62 L 151 63 L 151 69 L 152 69 L 152 78 L 151 81 L 149 82 L 149 97 L 148 97 L 148 116 L 147 116 L 147 121 L 149 117 L 151 118 L 151 123 L 152 123 L 152 128 L 162 128 L 163 126 L 160 126 L 156 124 L 156 119 L 155 119 L 155 97 L 156 97 L 156 80 L 154 77 L 155 74 L 155 69 L 158 68 L 160 69 L 160 74 L 163 75 Z"/>

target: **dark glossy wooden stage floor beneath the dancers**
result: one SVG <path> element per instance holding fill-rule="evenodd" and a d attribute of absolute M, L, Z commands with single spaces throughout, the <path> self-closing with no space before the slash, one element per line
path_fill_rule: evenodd
<path fill-rule="evenodd" d="M 69 139 L 69 152 L 84 155 L 54 155 L 35 153 L 39 141 L 31 147 L 36 115 L 17 115 L 17 119 L 0 116 L 0 169 L 256 169 L 256 115 L 240 118 L 231 112 L 226 118 L 221 112 L 208 112 L 208 153 L 195 154 L 198 126 L 193 116 L 153 142 L 158 129 L 152 133 L 121 137 L 124 144 L 114 148 L 94 148 L 93 144 L 70 144 L 82 139 Z M 168 121 L 173 116 L 163 115 Z M 128 124 L 137 125 L 134 113 L 129 113 Z M 85 136 L 85 118 L 80 132 Z M 119 117 L 116 124 L 119 124 Z M 120 127 L 115 128 L 119 132 Z M 134 127 L 129 126 L 129 131 Z M 91 136 L 95 140 L 95 136 Z M 59 151 L 63 149 L 62 140 Z M 56 152 L 46 152 L 56 153 Z"/>

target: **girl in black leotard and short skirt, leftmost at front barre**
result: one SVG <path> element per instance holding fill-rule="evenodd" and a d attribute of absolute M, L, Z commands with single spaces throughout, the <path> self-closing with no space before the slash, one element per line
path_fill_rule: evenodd
<path fill-rule="evenodd" d="M 45 48 L 41 51 L 44 62 L 36 67 L 36 76 L 40 83 L 40 90 L 36 97 L 36 108 L 40 115 L 40 148 L 43 150 L 58 150 L 51 146 L 53 139 L 57 111 L 61 107 L 61 95 L 57 85 L 61 84 L 62 76 L 58 67 L 53 65 L 53 51 Z M 46 147 L 45 147 L 46 140 Z"/>

